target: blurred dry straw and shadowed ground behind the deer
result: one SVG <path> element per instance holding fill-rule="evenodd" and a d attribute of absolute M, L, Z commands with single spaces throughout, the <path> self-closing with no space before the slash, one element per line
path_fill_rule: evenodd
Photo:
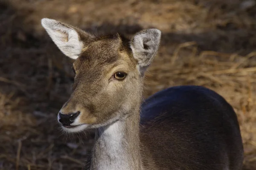
<path fill-rule="evenodd" d="M 217 91 L 239 119 L 243 170 L 256 170 L 256 0 L 0 0 L 1 170 L 81 170 L 93 145 L 93 133 L 58 129 L 74 75 L 44 17 L 98 35 L 160 29 L 144 98 L 174 85 Z"/>

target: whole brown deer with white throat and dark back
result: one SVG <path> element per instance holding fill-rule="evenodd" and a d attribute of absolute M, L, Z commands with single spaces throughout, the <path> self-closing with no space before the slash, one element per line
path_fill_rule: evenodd
<path fill-rule="evenodd" d="M 143 77 L 161 32 L 131 40 L 94 37 L 44 18 L 42 26 L 76 73 L 58 113 L 63 130 L 96 129 L 90 170 L 241 170 L 243 145 L 233 108 L 200 86 L 167 88 L 142 103 Z"/>

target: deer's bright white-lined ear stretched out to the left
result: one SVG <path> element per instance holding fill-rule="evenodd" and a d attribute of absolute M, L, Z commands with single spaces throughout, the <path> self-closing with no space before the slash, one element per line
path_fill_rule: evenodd
<path fill-rule="evenodd" d="M 82 40 L 89 40 L 93 37 L 78 28 L 52 19 L 44 18 L 41 24 L 58 48 L 72 59 L 77 59 L 81 54 L 86 44 Z"/>

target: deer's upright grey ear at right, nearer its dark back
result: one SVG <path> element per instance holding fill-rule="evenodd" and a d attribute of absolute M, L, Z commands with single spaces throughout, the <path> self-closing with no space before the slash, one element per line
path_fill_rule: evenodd
<path fill-rule="evenodd" d="M 158 29 L 142 30 L 132 38 L 131 49 L 134 58 L 137 59 L 138 69 L 142 75 L 157 54 L 160 39 L 161 31 Z"/>

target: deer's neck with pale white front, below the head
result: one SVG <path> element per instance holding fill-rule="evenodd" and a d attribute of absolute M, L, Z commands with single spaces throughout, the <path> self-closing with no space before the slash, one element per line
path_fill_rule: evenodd
<path fill-rule="evenodd" d="M 91 170 L 143 170 L 140 156 L 140 109 L 96 132 Z"/>

